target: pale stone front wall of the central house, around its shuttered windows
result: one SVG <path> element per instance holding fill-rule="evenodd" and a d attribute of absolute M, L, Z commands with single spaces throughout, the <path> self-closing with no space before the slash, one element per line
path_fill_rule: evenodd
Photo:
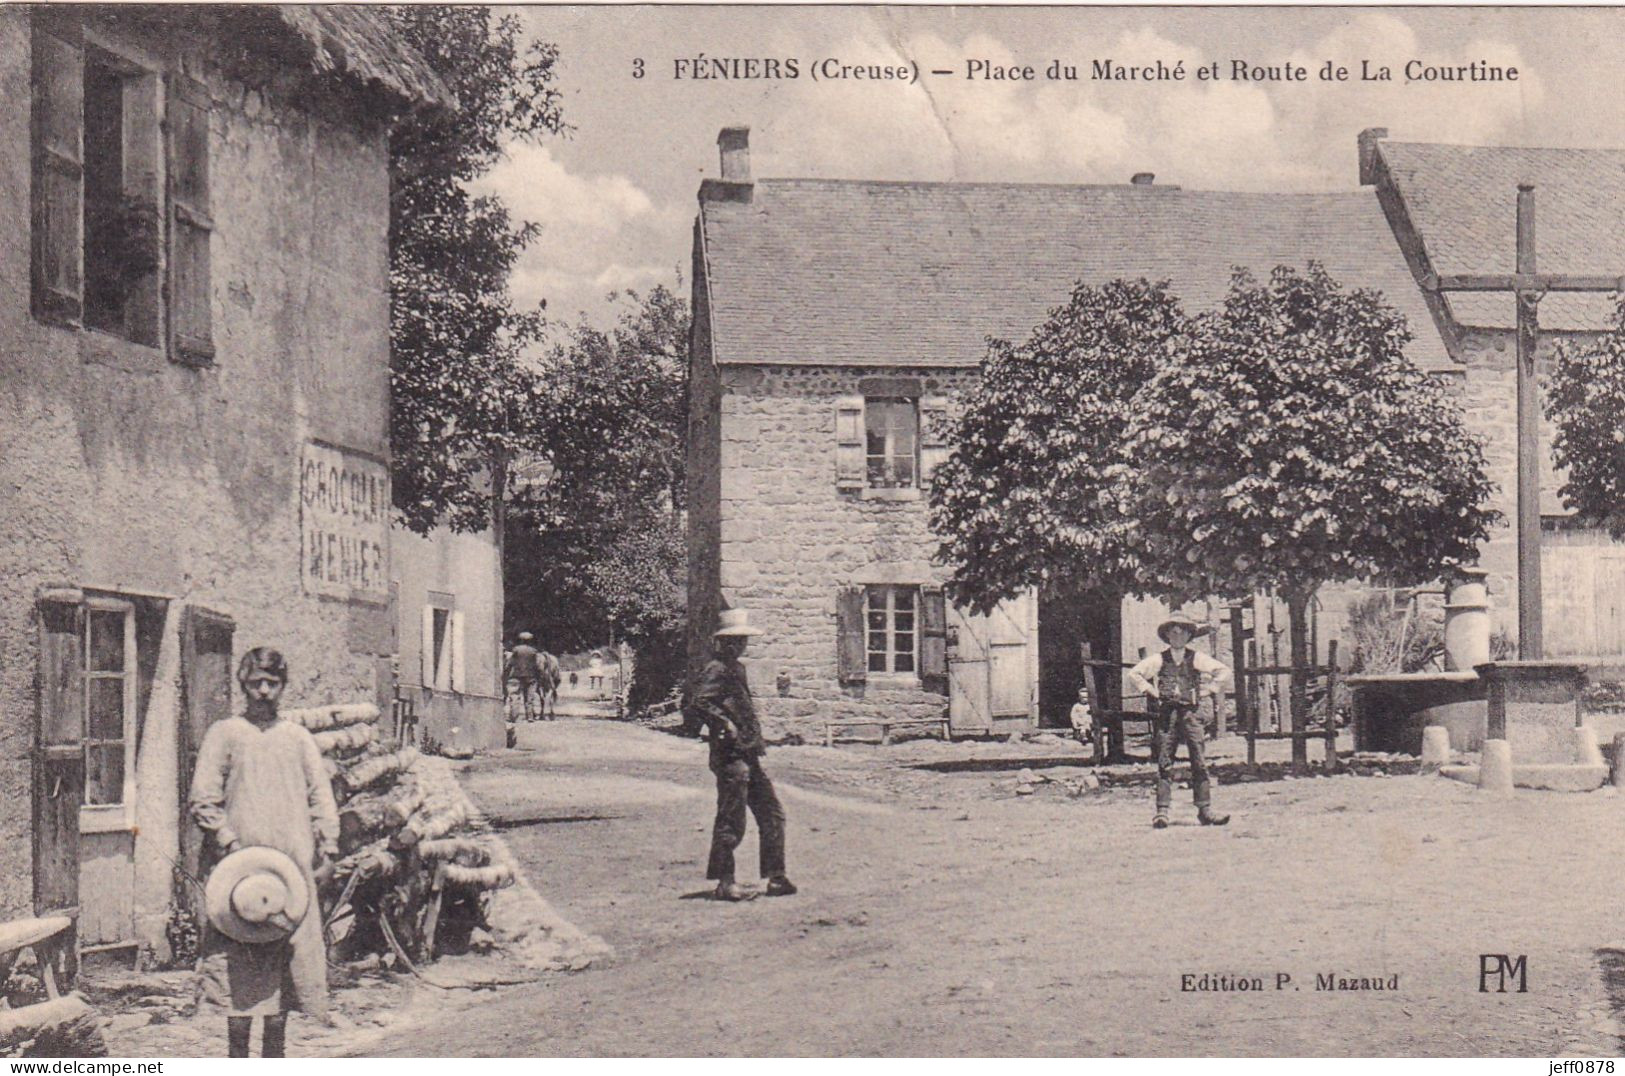
<path fill-rule="evenodd" d="M 720 374 L 722 593 L 764 629 L 748 665 L 770 730 L 806 736 L 827 717 L 941 715 L 947 699 L 912 676 L 838 683 L 838 590 L 938 584 L 946 571 L 931 564 L 923 491 L 837 489 L 835 406 L 876 374 L 918 379 L 923 395 L 952 400 L 977 371 L 728 366 Z"/>

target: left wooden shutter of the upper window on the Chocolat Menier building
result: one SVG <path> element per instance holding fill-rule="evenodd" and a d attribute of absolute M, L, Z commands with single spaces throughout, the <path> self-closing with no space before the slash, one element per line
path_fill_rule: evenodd
<path fill-rule="evenodd" d="M 34 16 L 34 315 L 76 325 L 84 307 L 84 46 L 78 26 Z"/>

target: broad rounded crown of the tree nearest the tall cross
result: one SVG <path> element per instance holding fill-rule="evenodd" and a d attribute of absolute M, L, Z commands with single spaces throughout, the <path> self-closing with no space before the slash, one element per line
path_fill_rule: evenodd
<path fill-rule="evenodd" d="M 1380 294 L 1320 265 L 1238 271 L 1196 348 L 1136 398 L 1113 465 L 1142 588 L 1306 597 L 1476 561 L 1495 520 L 1484 452 L 1409 340 Z"/>

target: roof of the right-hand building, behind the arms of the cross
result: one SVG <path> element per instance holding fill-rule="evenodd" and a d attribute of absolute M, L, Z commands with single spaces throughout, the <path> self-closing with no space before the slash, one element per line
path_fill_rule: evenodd
<path fill-rule="evenodd" d="M 1529 150 L 1381 141 L 1383 161 L 1435 273 L 1511 273 L 1518 184 L 1536 185 L 1542 273 L 1625 275 L 1625 150 Z M 1450 293 L 1462 325 L 1511 328 L 1510 294 Z M 1607 328 L 1606 294 L 1550 294 L 1542 328 Z"/>

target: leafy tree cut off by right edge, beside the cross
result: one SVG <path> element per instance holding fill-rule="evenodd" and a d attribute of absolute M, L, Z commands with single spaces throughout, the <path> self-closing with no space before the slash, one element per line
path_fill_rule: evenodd
<path fill-rule="evenodd" d="M 1557 424 L 1552 458 L 1568 468 L 1563 504 L 1625 540 L 1625 297 L 1610 332 L 1557 349 L 1545 413 Z"/>

